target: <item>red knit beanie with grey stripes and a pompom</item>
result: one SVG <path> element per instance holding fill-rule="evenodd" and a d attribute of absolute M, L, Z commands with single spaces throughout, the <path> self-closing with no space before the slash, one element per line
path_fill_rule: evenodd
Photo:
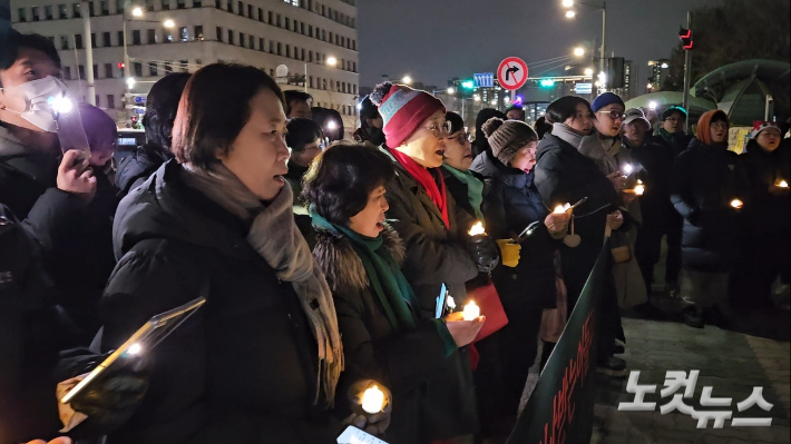
<path fill-rule="evenodd" d="M 379 83 L 369 98 L 379 107 L 387 145 L 392 148 L 401 146 L 432 114 L 446 112 L 438 98 L 406 85 Z"/>

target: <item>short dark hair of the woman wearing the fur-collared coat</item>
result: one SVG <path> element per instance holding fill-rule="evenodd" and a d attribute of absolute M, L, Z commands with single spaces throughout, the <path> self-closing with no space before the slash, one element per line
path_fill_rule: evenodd
<path fill-rule="evenodd" d="M 302 196 L 330 223 L 348 225 L 365 208 L 371 191 L 394 177 L 392 160 L 378 149 L 339 141 L 311 164 Z"/>

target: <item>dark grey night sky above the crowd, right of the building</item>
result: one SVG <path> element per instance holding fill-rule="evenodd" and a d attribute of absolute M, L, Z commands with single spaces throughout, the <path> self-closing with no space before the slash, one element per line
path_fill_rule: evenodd
<path fill-rule="evenodd" d="M 607 57 L 634 60 L 638 91 L 647 62 L 670 58 L 686 11 L 721 0 L 608 0 Z M 600 4 L 594 0 L 592 3 Z M 508 56 L 527 61 L 534 77 L 550 66 L 530 62 L 570 55 L 602 36 L 602 11 L 576 6 L 565 18 L 560 0 L 361 0 L 358 1 L 360 86 L 382 75 L 445 87 L 452 77 L 495 72 Z M 694 29 L 694 27 L 693 27 Z M 588 59 L 589 57 L 586 56 Z"/>

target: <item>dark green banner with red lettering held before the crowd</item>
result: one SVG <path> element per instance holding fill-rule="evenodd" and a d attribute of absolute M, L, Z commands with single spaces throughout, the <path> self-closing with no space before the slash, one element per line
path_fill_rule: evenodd
<path fill-rule="evenodd" d="M 597 308 L 611 262 L 609 248 L 603 248 L 508 444 L 590 442 Z"/>

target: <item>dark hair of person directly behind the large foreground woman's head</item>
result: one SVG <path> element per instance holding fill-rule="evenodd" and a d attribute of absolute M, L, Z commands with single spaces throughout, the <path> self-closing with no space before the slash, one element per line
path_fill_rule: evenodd
<path fill-rule="evenodd" d="M 187 72 L 169 73 L 157 80 L 148 92 L 143 126 L 149 147 L 170 152 L 173 122 L 189 76 Z"/>

